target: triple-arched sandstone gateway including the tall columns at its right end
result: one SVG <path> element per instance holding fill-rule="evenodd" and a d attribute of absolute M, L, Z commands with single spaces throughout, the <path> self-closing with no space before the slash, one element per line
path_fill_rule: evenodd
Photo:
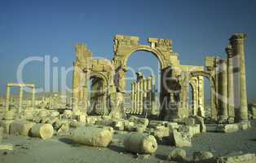
<path fill-rule="evenodd" d="M 188 86 L 192 84 L 196 95 L 196 112 L 200 111 L 204 117 L 204 77 L 210 80 L 212 117 L 218 116 L 236 118 L 236 121 L 246 121 L 247 102 L 245 85 L 245 52 L 244 33 L 236 33 L 230 38 L 227 46 L 227 60 L 216 56 L 207 56 L 205 66 L 183 65 L 179 62 L 179 54 L 173 51 L 172 40 L 148 38 L 149 45 L 141 45 L 139 37 L 116 35 L 114 37 L 113 59 L 94 59 L 92 53 L 84 44 L 76 46 L 76 61 L 73 70 L 73 109 L 87 109 L 88 81 L 91 77 L 101 78 L 106 88 L 110 115 L 124 117 L 124 96 L 126 95 L 127 60 L 136 51 L 148 51 L 155 55 L 161 64 L 160 104 L 157 108 L 162 120 L 188 117 Z M 238 75 L 233 75 L 233 67 L 241 65 Z M 206 70 L 205 70 L 206 69 Z M 228 73 L 228 77 L 227 77 Z M 240 82 L 238 82 L 240 81 Z M 96 81 L 95 81 L 96 82 Z M 150 80 L 144 79 L 139 87 L 147 88 Z M 237 84 L 239 83 L 239 84 Z M 98 83 L 99 84 L 99 83 Z M 78 89 L 77 89 L 78 88 Z M 132 97 L 138 101 L 136 94 L 147 95 L 145 92 L 136 92 L 134 87 Z M 139 100 L 143 100 L 140 96 Z M 151 99 L 151 98 L 150 98 Z M 220 100 L 222 99 L 222 100 Z M 146 105 L 147 106 L 147 105 Z M 236 112 L 235 112 L 236 108 Z M 141 108 L 139 108 L 139 112 Z"/>

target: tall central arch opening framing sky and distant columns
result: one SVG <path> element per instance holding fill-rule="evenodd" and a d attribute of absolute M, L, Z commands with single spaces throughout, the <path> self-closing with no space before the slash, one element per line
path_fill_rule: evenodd
<path fill-rule="evenodd" d="M 152 103 L 154 105 L 159 103 L 159 90 L 161 89 L 160 59 L 150 51 L 134 51 L 126 58 L 126 66 L 125 100 L 127 110 L 130 111 L 136 108 L 136 111 L 130 113 L 143 115 L 144 117 L 152 114 L 156 115 L 159 111 L 157 111 L 158 108 L 152 110 Z M 134 98 L 132 95 L 134 95 Z M 143 105 L 143 110 L 138 111 L 138 106 L 135 106 L 138 101 L 139 105 Z"/>

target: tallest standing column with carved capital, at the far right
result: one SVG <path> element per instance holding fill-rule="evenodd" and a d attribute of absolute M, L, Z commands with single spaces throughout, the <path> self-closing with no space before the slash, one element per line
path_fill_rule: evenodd
<path fill-rule="evenodd" d="M 235 104 L 237 104 L 237 117 L 238 121 L 248 121 L 248 108 L 247 108 L 247 92 L 246 92 L 246 77 L 245 77 L 245 33 L 236 33 L 229 39 L 232 50 L 235 56 L 235 67 L 238 74 L 238 97 L 235 97 Z M 234 65 L 235 66 L 235 65 Z M 236 101 L 237 100 L 237 101 Z M 236 107 L 236 106 L 235 106 Z"/>

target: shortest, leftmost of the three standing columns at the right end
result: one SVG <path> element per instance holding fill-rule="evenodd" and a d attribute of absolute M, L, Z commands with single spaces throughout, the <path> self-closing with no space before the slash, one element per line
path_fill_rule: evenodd
<path fill-rule="evenodd" d="M 227 114 L 227 61 L 225 59 L 219 59 L 220 64 L 220 111 L 221 118 L 226 119 Z"/>

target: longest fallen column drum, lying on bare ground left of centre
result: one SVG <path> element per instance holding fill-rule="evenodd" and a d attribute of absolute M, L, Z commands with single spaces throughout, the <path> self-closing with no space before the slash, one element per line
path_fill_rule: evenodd
<path fill-rule="evenodd" d="M 105 128 L 82 126 L 74 130 L 71 137 L 76 143 L 106 148 L 113 139 L 113 133 Z"/>

